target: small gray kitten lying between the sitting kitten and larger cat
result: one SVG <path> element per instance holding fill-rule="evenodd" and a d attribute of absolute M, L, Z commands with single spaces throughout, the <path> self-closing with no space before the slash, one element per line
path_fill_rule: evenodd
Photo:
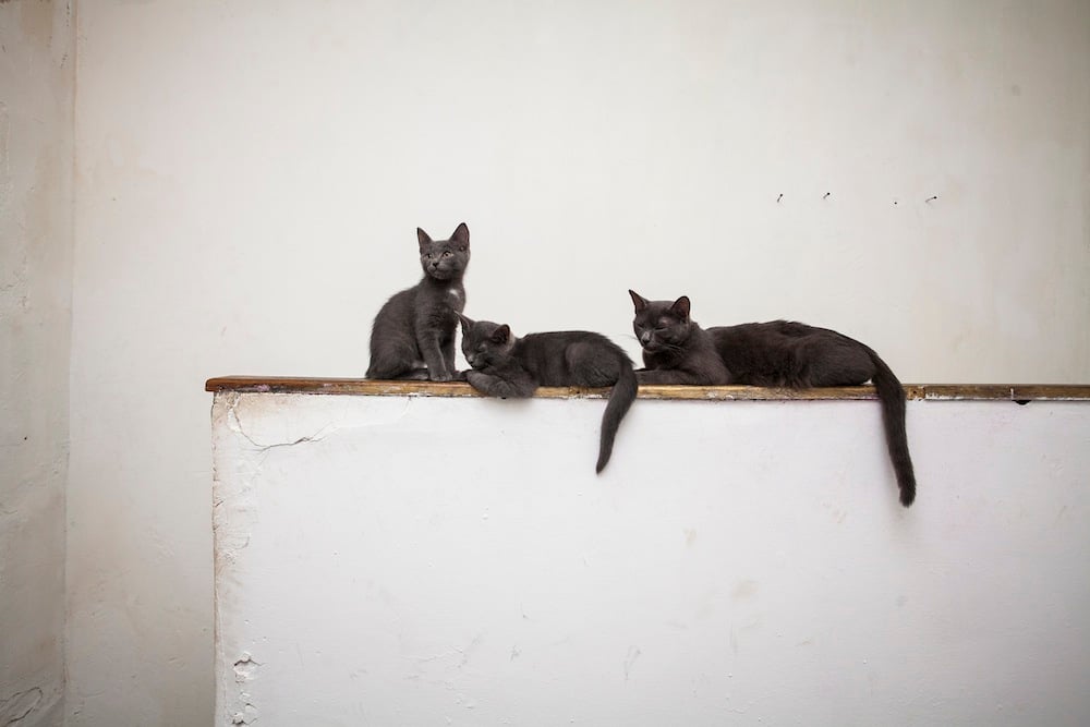
<path fill-rule="evenodd" d="M 635 374 L 628 354 L 605 336 L 585 330 L 518 338 L 506 324 L 472 320 L 460 313 L 458 318 L 462 353 L 473 367 L 465 372 L 465 379 L 483 393 L 525 398 L 538 386 L 613 387 L 602 415 L 595 465 L 602 472 L 613 453 L 617 427 L 635 399 Z"/>

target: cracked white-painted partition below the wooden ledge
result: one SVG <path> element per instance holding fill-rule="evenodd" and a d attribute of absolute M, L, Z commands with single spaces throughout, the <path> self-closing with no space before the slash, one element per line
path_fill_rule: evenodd
<path fill-rule="evenodd" d="M 219 390 L 217 725 L 1090 724 L 1090 404 Z"/>

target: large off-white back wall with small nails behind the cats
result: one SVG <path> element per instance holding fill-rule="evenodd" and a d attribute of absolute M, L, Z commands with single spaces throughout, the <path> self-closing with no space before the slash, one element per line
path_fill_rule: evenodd
<path fill-rule="evenodd" d="M 1079 0 L 78 16 L 74 725 L 207 723 L 202 381 L 361 375 L 417 225 L 469 222 L 468 312 L 518 331 L 634 353 L 635 288 L 840 328 L 905 380 L 1090 381 Z"/>

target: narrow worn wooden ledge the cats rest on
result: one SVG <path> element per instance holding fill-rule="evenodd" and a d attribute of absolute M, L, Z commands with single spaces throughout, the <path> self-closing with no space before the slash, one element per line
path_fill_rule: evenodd
<path fill-rule="evenodd" d="M 301 376 L 220 376 L 205 383 L 205 391 L 240 393 L 349 393 L 372 397 L 480 397 L 469 384 L 436 381 L 382 381 L 363 378 L 305 378 Z M 542 399 L 608 396 L 609 389 L 542 387 Z M 1090 401 L 1090 385 L 906 384 L 909 399 L 927 401 Z M 777 401 L 789 399 L 874 399 L 873 386 L 820 389 L 782 389 L 760 386 L 641 386 L 641 399 L 702 401 Z"/>

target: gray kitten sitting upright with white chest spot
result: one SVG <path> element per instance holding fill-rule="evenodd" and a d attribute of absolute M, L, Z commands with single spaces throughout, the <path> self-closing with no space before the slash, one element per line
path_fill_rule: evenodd
<path fill-rule="evenodd" d="M 449 240 L 432 240 L 416 228 L 419 283 L 386 301 L 371 328 L 367 378 L 449 381 L 455 368 L 455 316 L 465 307 L 462 276 L 470 262 L 470 229 L 458 226 Z"/>

